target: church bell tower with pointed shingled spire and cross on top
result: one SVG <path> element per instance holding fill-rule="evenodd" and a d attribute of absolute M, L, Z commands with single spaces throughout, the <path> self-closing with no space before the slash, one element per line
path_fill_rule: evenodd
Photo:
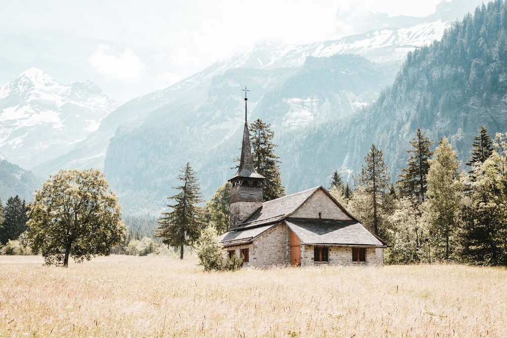
<path fill-rule="evenodd" d="M 243 143 L 241 145 L 241 160 L 236 174 L 229 179 L 231 182 L 231 230 L 238 227 L 254 211 L 262 207 L 262 181 L 266 179 L 253 168 L 250 147 L 250 133 L 246 121 L 246 92 L 245 92 L 245 127 Z"/>

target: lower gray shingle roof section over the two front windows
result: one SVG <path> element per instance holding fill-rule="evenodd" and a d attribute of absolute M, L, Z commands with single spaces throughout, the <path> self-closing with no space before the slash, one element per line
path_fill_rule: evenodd
<path fill-rule="evenodd" d="M 285 218 L 301 244 L 386 246 L 355 220 Z"/>

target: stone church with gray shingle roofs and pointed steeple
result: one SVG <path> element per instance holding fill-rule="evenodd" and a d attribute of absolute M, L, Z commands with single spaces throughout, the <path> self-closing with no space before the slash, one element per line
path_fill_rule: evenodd
<path fill-rule="evenodd" d="M 246 101 L 245 95 L 240 164 L 229 179 L 231 226 L 221 237 L 227 255 L 242 255 L 244 267 L 383 265 L 387 244 L 322 186 L 263 202 L 265 178 L 253 168 Z"/>

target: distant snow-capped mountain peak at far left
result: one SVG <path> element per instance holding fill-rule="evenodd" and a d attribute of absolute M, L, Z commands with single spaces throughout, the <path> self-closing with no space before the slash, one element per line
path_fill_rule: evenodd
<path fill-rule="evenodd" d="M 89 81 L 63 85 L 30 68 L 0 86 L 0 155 L 33 168 L 68 152 L 117 106 Z"/>

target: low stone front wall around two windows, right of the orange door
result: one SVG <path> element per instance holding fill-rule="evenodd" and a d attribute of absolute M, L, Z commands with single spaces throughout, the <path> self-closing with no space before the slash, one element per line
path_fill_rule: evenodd
<path fill-rule="evenodd" d="M 314 246 L 301 245 L 301 266 L 314 265 L 373 265 L 381 266 L 384 262 L 382 248 L 366 248 L 366 262 L 352 261 L 352 248 L 349 246 L 328 246 L 329 262 L 313 260 Z"/>

